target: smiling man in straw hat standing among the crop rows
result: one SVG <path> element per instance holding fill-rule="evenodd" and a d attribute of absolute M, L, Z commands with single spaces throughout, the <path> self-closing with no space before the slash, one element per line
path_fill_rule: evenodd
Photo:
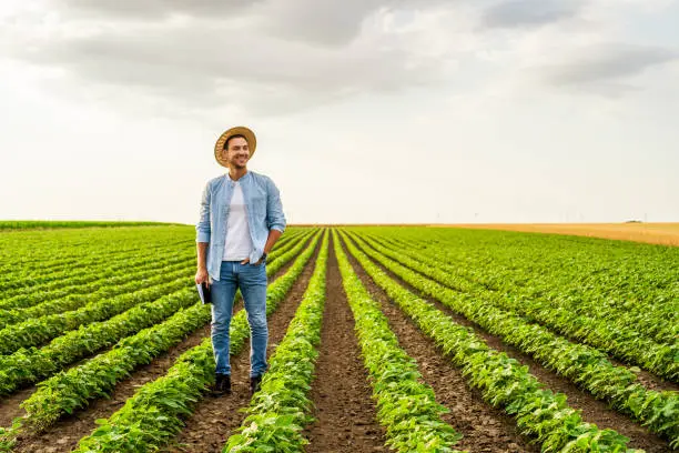
<path fill-rule="evenodd" d="M 250 324 L 250 391 L 254 394 L 267 370 L 266 255 L 285 230 L 278 189 L 247 170 L 256 139 L 244 127 L 224 132 L 214 147 L 226 174 L 207 182 L 195 226 L 197 272 L 212 294 L 212 349 L 216 362 L 215 396 L 231 393 L 229 328 L 236 290 L 241 290 Z"/>

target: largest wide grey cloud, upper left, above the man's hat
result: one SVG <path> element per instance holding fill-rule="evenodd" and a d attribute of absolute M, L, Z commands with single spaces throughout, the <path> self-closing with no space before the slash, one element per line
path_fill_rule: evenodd
<path fill-rule="evenodd" d="M 257 33 L 247 21 L 195 19 L 29 39 L 8 49 L 30 63 L 64 69 L 90 89 L 138 90 L 174 99 L 179 109 L 229 103 L 274 114 L 446 80 L 437 59 L 391 43 L 314 47 Z"/>

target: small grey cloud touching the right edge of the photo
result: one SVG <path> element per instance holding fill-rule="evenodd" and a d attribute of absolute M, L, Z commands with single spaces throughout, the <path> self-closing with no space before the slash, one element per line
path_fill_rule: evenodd
<path fill-rule="evenodd" d="M 630 87 L 620 83 L 620 79 L 640 74 L 678 58 L 676 50 L 609 43 L 582 49 L 560 64 L 543 68 L 543 74 L 548 83 L 559 87 L 609 82 L 619 91 Z"/>

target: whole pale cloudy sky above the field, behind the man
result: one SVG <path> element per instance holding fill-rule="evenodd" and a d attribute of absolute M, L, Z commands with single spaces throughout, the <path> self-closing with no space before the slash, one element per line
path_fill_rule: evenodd
<path fill-rule="evenodd" d="M 679 221 L 679 0 L 2 0 L 0 219 Z"/>

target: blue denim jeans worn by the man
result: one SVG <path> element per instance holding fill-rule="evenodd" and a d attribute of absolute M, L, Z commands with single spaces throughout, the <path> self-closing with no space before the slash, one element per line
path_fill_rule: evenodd
<path fill-rule="evenodd" d="M 212 350 L 215 371 L 231 374 L 229 362 L 229 328 L 236 290 L 241 290 L 250 324 L 250 375 L 262 375 L 266 369 L 266 263 L 241 264 L 222 261 L 220 280 L 211 284 L 212 292 Z"/>

